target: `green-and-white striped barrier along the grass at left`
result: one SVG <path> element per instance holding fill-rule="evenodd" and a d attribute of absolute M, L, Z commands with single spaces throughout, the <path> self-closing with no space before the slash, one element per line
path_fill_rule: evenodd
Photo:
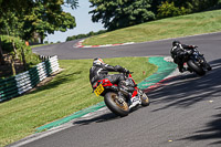
<path fill-rule="evenodd" d="M 57 56 L 52 56 L 31 70 L 13 77 L 0 80 L 0 102 L 19 96 L 35 87 L 41 81 L 60 69 Z"/>

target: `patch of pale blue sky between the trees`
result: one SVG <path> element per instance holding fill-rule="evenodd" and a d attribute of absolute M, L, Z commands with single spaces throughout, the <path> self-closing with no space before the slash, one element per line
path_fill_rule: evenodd
<path fill-rule="evenodd" d="M 88 11 L 93 10 L 90 8 L 91 3 L 88 0 L 78 0 L 77 9 L 72 10 L 71 8 L 63 7 L 65 12 L 70 12 L 75 17 L 76 27 L 72 30 L 67 30 L 66 32 L 54 32 L 54 34 L 48 34 L 44 41 L 56 43 L 65 42 L 67 36 L 77 35 L 77 34 L 86 34 L 91 31 L 97 32 L 99 30 L 105 30 L 102 23 L 93 23 L 92 14 L 88 14 Z"/>

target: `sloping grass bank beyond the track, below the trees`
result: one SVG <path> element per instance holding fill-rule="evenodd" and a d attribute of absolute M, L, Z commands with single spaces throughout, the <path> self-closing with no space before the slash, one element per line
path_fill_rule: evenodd
<path fill-rule="evenodd" d="M 173 17 L 88 38 L 83 45 L 146 42 L 221 31 L 221 10 Z"/>

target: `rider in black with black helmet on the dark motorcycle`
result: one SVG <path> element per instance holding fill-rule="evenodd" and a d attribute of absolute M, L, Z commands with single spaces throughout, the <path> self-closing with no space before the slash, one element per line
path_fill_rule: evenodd
<path fill-rule="evenodd" d="M 173 62 L 178 64 L 178 69 L 180 73 L 189 70 L 189 69 L 183 67 L 185 55 L 189 54 L 189 52 L 194 48 L 197 46 L 181 44 L 180 41 L 177 41 L 177 40 L 172 42 L 170 54 L 171 54 L 171 57 L 173 59 Z"/>

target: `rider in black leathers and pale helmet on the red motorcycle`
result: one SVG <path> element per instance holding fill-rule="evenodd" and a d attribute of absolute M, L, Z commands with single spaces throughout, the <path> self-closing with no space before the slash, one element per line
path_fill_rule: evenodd
<path fill-rule="evenodd" d="M 106 63 L 101 57 L 96 57 L 93 61 L 93 66 L 90 69 L 90 82 L 92 87 L 96 84 L 98 80 L 108 78 L 113 84 L 117 84 L 118 88 L 125 90 L 127 92 L 134 93 L 136 91 L 134 87 L 125 86 L 125 76 L 123 74 L 113 74 L 109 75 L 108 72 L 123 72 L 129 73 L 128 70 L 122 67 L 120 65 L 112 66 Z M 119 96 L 122 93 L 119 92 Z M 133 96 L 130 94 L 130 103 L 131 105 L 138 105 L 139 98 L 138 96 Z"/>

